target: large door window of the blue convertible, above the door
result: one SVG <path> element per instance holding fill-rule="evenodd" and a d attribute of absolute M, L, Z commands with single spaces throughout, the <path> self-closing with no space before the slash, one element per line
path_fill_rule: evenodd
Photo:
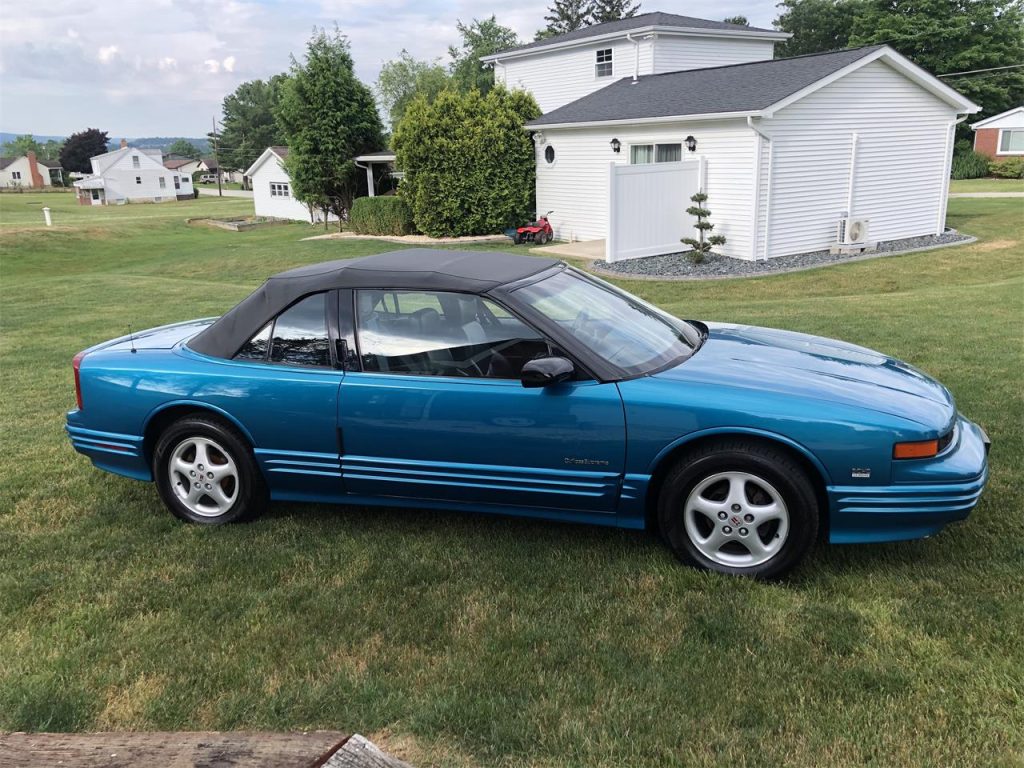
<path fill-rule="evenodd" d="M 362 370 L 418 376 L 518 379 L 551 353 L 548 342 L 500 305 L 439 291 L 357 291 Z"/>

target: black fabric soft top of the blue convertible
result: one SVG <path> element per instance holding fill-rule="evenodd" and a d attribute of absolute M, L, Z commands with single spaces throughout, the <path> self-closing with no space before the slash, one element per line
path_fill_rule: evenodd
<path fill-rule="evenodd" d="M 284 309 L 311 293 L 337 288 L 407 291 L 487 291 L 528 278 L 560 262 L 494 251 L 435 251 L 411 248 L 359 259 L 340 259 L 289 269 L 269 278 L 202 333 L 188 347 L 230 357 Z"/>

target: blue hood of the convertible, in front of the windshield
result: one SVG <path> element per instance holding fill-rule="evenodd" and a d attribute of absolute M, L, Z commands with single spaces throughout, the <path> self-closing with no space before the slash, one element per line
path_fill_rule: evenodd
<path fill-rule="evenodd" d="M 654 378 L 865 408 L 942 432 L 955 416 L 949 391 L 912 366 L 865 347 L 753 326 L 707 324 L 685 362 Z"/>

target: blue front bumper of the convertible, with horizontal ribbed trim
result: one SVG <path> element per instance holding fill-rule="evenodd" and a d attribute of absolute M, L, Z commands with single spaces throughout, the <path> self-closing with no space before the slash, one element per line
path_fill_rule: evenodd
<path fill-rule="evenodd" d="M 965 519 L 988 480 L 991 441 L 977 424 L 957 419 L 957 439 L 935 459 L 919 460 L 920 480 L 890 485 L 828 487 L 833 544 L 865 544 L 923 539 Z M 929 475 L 934 480 L 929 480 Z"/>

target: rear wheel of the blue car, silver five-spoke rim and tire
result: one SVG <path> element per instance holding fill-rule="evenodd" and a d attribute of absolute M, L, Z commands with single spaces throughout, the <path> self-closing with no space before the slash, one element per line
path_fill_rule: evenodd
<path fill-rule="evenodd" d="M 266 506 L 266 485 L 248 442 L 213 418 L 185 417 L 168 427 L 154 451 L 153 474 L 164 505 L 189 522 L 236 522 Z"/>

